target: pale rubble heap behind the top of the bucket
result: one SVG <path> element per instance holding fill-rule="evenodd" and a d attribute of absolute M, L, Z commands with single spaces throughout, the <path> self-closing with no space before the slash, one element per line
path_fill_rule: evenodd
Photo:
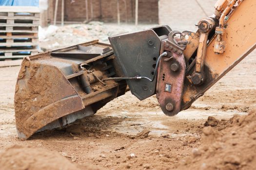
<path fill-rule="evenodd" d="M 50 25 L 39 27 L 39 45 L 43 51 L 66 47 L 73 44 L 84 43 L 99 39 L 100 42 L 109 43 L 108 36 L 124 32 L 144 30 L 156 25 L 105 24 L 92 21 L 88 24 L 71 24 L 66 26 Z"/>

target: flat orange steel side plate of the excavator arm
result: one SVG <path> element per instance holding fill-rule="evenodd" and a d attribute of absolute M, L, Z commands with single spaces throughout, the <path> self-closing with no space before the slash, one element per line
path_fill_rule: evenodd
<path fill-rule="evenodd" d="M 221 77 L 234 68 L 243 58 L 256 48 L 256 0 L 244 0 L 226 21 L 226 34 L 222 41 L 226 42 L 226 51 L 216 54 L 215 36 L 208 44 L 205 56 L 205 72 L 207 73 L 203 85 L 193 86 L 188 78 L 182 99 L 182 109 L 188 108 L 192 102 L 202 96 Z"/>

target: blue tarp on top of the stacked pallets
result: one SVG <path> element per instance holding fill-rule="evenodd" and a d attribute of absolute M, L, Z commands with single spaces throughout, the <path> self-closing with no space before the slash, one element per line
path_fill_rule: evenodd
<path fill-rule="evenodd" d="M 3 6 L 39 6 L 39 0 L 0 0 Z"/>

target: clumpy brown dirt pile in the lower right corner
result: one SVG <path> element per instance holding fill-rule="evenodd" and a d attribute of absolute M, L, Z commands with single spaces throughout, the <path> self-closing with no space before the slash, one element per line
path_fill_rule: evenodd
<path fill-rule="evenodd" d="M 234 116 L 219 130 L 217 121 L 208 119 L 203 129 L 202 145 L 178 169 L 189 170 L 253 170 L 256 167 L 256 111 Z M 213 123 L 214 122 L 214 123 Z M 253 151 L 253 152 L 252 152 Z"/>

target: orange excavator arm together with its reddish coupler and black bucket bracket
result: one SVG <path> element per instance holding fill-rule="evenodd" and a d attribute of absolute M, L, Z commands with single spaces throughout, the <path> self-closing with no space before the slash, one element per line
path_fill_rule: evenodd
<path fill-rule="evenodd" d="M 196 33 L 169 30 L 168 38 L 163 38 L 167 35 L 163 31 L 165 26 L 151 29 L 160 43 L 152 40 L 152 36 L 146 34 L 148 31 L 140 32 L 139 41 L 133 43 L 127 42 L 132 42 L 138 33 L 109 39 L 122 66 L 123 77 L 154 72 L 156 64 L 152 65 L 150 59 L 158 57 L 150 53 L 144 55 L 142 48 L 152 51 L 153 46 L 160 48 L 160 54 L 167 52 L 168 55 L 160 59 L 156 84 L 150 84 L 156 89 L 149 89 L 147 80 L 127 80 L 127 83 L 140 100 L 157 94 L 162 111 L 174 116 L 189 108 L 256 48 L 255 11 L 255 0 L 218 0 L 214 15 L 201 19 Z"/>

